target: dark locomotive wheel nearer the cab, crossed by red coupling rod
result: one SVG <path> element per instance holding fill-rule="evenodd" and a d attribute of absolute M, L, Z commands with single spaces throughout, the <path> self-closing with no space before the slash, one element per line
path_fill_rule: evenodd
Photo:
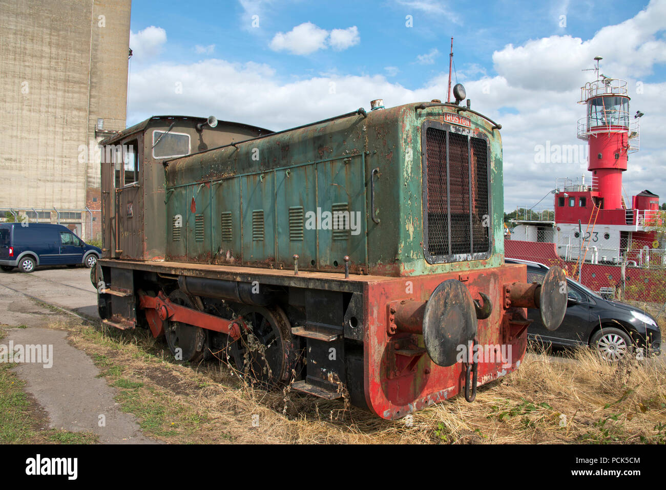
<path fill-rule="evenodd" d="M 168 295 L 173 303 L 194 309 L 192 301 L 184 292 L 175 290 Z M 165 338 L 168 348 L 177 361 L 200 362 L 206 354 L 208 334 L 206 330 L 182 322 L 167 322 Z"/>

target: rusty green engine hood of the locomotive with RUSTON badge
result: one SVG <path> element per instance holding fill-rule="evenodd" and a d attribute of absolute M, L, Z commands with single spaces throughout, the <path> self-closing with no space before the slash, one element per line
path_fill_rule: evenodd
<path fill-rule="evenodd" d="M 351 272 L 380 276 L 500 266 L 499 132 L 483 117 L 444 109 L 411 104 L 372 111 L 169 162 L 166 258 L 280 269 L 292 267 L 298 254 L 302 270 L 342 271 L 349 256 Z M 445 114 L 470 127 L 446 122 Z M 450 162 L 453 253 L 438 253 L 438 240 L 449 247 L 442 226 L 424 242 L 428 134 L 436 153 L 432 187 L 446 178 L 442 160 L 435 160 L 447 136 L 458 159 Z M 446 198 L 431 196 L 431 208 Z"/>

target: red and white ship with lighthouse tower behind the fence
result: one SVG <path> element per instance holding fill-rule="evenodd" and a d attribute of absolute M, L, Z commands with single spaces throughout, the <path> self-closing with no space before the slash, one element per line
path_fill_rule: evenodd
<path fill-rule="evenodd" d="M 639 150 L 643 113 L 630 113 L 627 82 L 599 73 L 599 60 L 595 58 L 596 80 L 581 87 L 579 100 L 586 114 L 578 121 L 577 136 L 587 141 L 590 173 L 557 179 L 552 191 L 553 221 L 513 220 L 516 226 L 512 243 L 506 244 L 507 257 L 543 262 L 539 248 L 527 242 L 552 242 L 556 257 L 575 262 L 570 269 L 576 276 L 583 264 L 666 265 L 666 240 L 659 240 L 655 231 L 661 224 L 659 196 L 643 190 L 632 196 L 631 202 L 623 198 L 622 174 L 627 171 L 629 154 Z M 603 275 L 613 276 L 608 272 Z"/>

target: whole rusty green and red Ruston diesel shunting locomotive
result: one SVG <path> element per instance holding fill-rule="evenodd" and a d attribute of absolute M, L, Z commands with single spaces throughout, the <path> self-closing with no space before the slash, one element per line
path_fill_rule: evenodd
<path fill-rule="evenodd" d="M 278 132 L 165 116 L 110 136 L 103 322 L 386 419 L 471 401 L 519 366 L 525 308 L 555 329 L 567 292 L 559 269 L 539 285 L 504 264 L 501 126 L 454 94 Z"/>

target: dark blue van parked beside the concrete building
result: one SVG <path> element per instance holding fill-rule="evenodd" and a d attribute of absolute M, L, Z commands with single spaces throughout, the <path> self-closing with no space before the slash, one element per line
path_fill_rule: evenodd
<path fill-rule="evenodd" d="M 92 268 L 102 250 L 86 244 L 61 224 L 0 223 L 0 267 L 33 272 L 37 266 L 85 264 Z"/>

